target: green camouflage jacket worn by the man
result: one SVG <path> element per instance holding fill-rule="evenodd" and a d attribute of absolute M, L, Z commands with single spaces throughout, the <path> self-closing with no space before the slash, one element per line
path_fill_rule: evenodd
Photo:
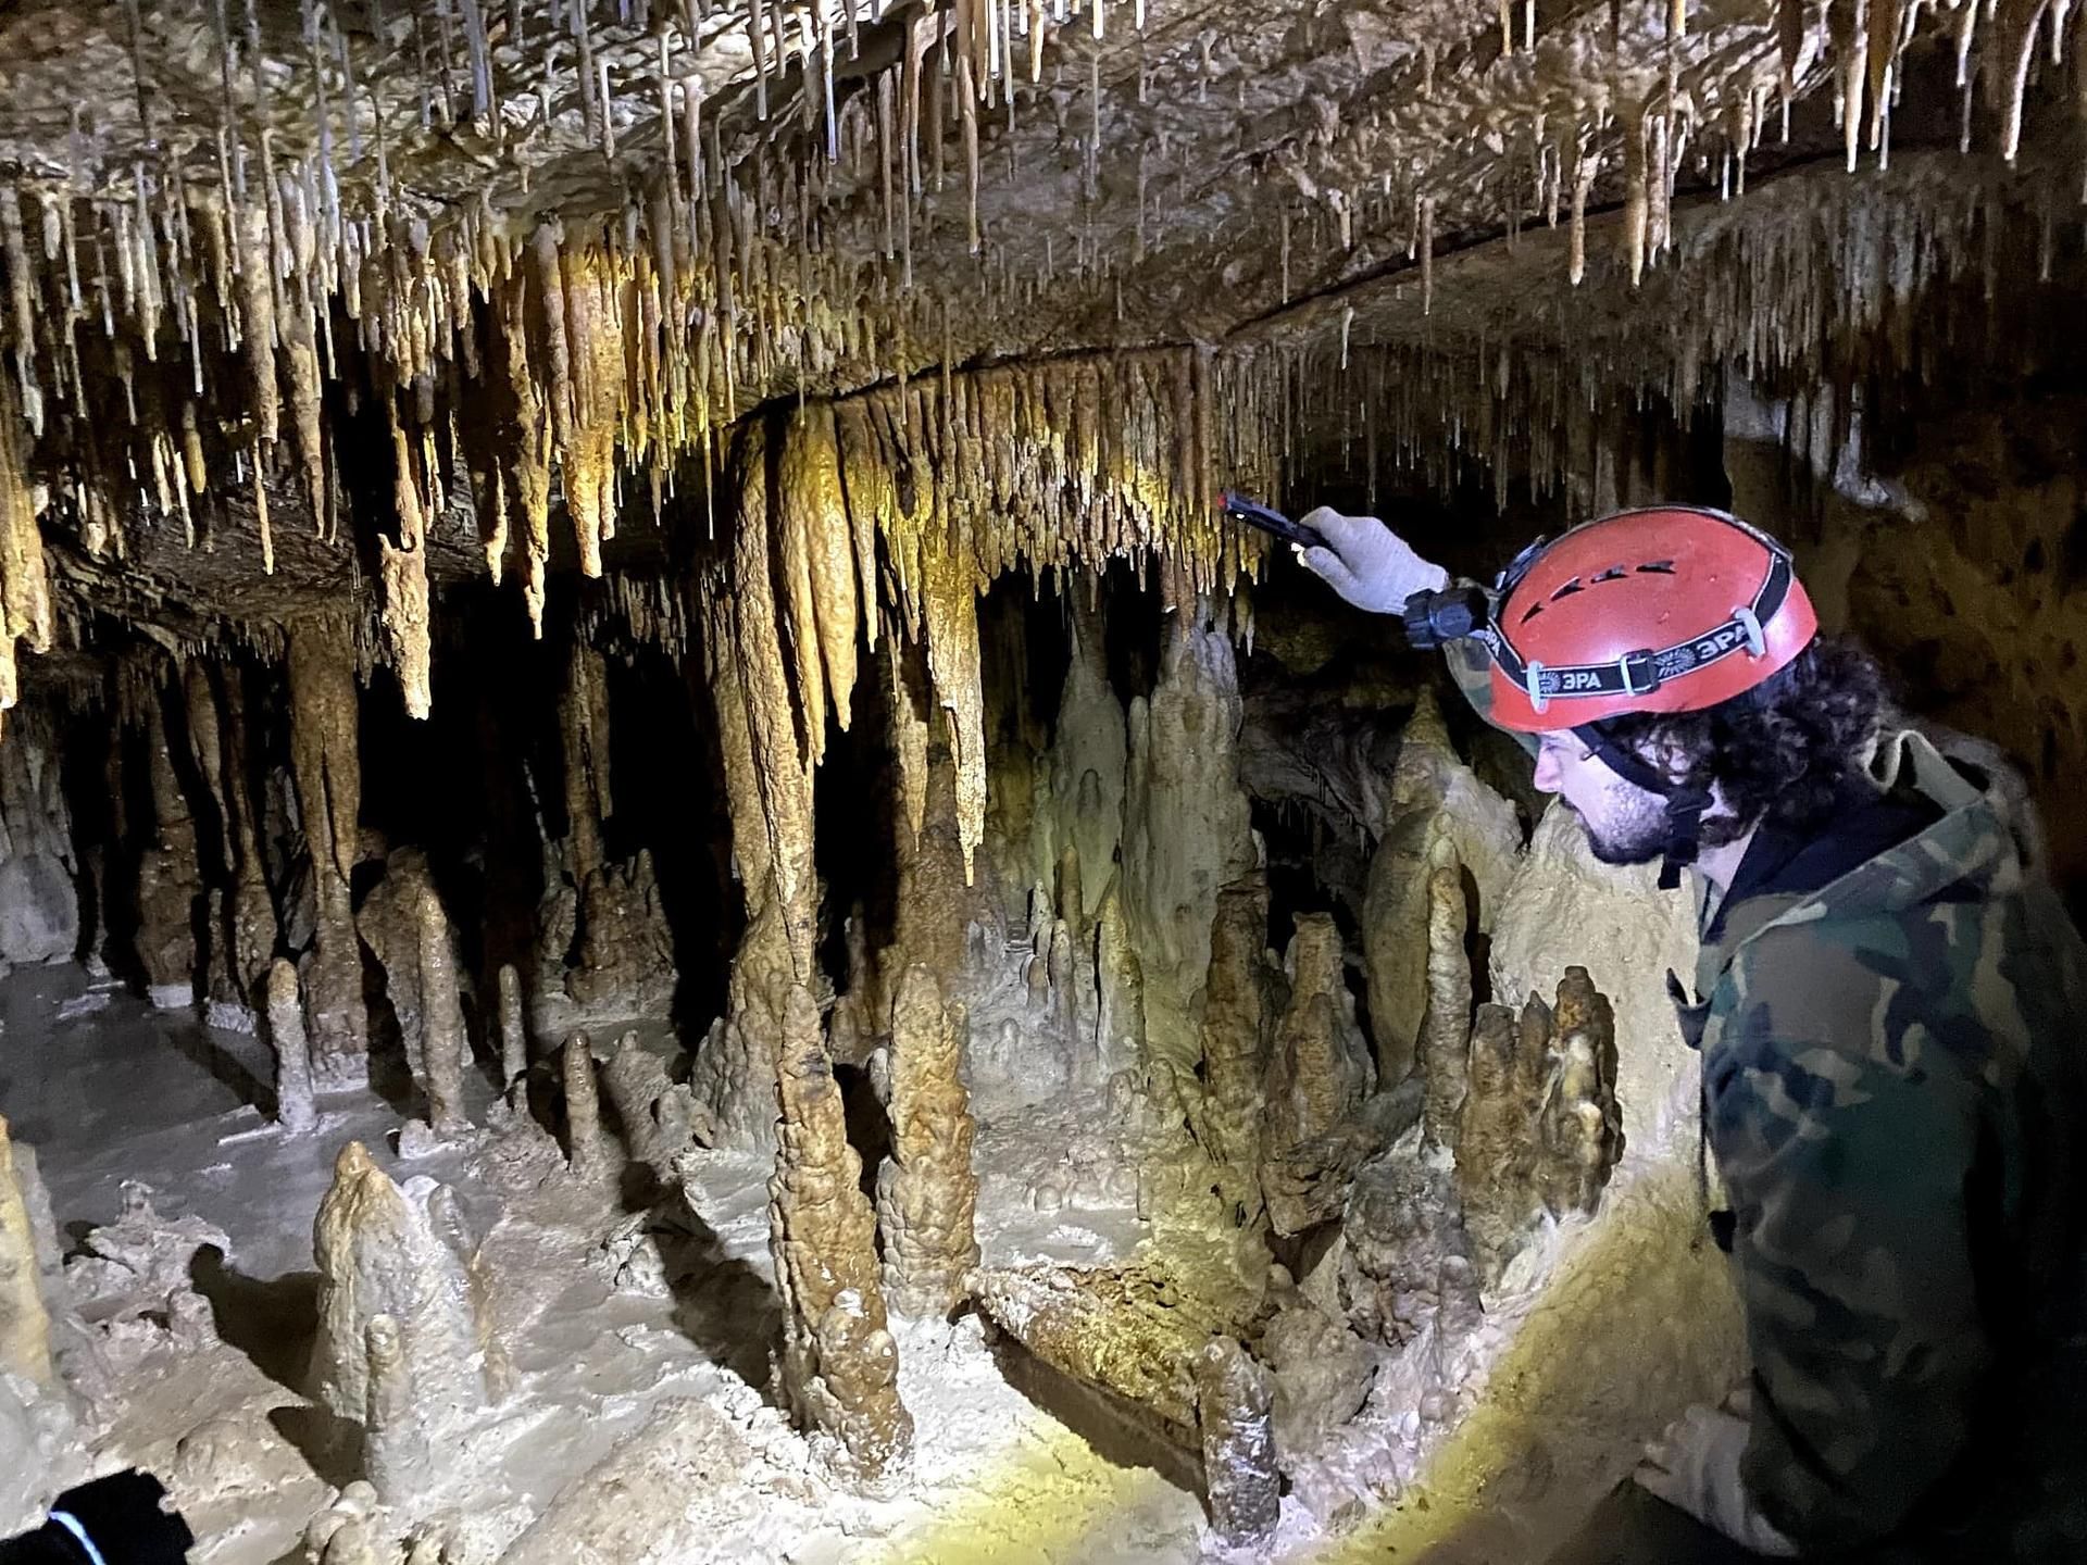
<path fill-rule="evenodd" d="M 1993 801 L 1809 895 L 1705 904 L 1705 1127 L 1732 1214 L 1747 1492 L 1807 1557 L 2087 1559 L 2087 949 Z"/>

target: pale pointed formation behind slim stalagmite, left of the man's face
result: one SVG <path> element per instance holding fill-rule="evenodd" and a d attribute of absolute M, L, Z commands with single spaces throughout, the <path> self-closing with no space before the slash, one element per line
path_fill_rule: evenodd
<path fill-rule="evenodd" d="M 1430 989 L 1430 874 L 1444 851 L 1471 876 L 1476 926 L 1490 933 L 1521 849 L 1513 805 L 1478 780 L 1448 743 L 1423 691 L 1398 743 L 1390 824 L 1369 862 L 1363 954 L 1377 1079 L 1396 1083 L 1415 1062 Z"/>

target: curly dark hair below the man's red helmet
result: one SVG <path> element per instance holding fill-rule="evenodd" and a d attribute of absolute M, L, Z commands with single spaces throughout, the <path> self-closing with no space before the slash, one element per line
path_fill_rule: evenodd
<path fill-rule="evenodd" d="M 1768 680 L 1703 712 L 1611 718 L 1603 732 L 1647 757 L 1686 757 L 1682 782 L 1718 785 L 1730 814 L 1703 818 L 1703 843 L 1768 822 L 1820 828 L 1876 741 L 1885 678 L 1853 641 L 1820 636 Z"/>

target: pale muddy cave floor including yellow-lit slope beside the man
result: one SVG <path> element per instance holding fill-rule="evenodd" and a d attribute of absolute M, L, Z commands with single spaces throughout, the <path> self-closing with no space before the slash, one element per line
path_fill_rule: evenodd
<path fill-rule="evenodd" d="M 666 1233 L 653 1225 L 664 1265 L 647 1277 L 645 1267 L 624 1265 L 643 1204 L 574 1183 L 547 1135 L 474 1131 L 405 1160 L 394 1139 L 401 1106 L 355 1091 L 321 1100 L 317 1133 L 286 1137 L 257 1108 L 269 1100 L 269 1073 L 259 1039 L 154 1012 L 81 968 L 0 981 L 0 1112 L 17 1141 L 38 1148 L 67 1250 L 119 1217 L 123 1181 L 146 1185 L 163 1221 L 194 1217 L 227 1239 L 223 1256 L 211 1248 L 190 1262 L 186 1285 L 211 1306 L 213 1329 L 200 1338 L 169 1331 L 150 1300 L 115 1310 L 117 1319 L 106 1300 L 90 1313 L 109 1388 L 83 1421 L 94 1459 L 167 1477 L 202 1540 L 198 1565 L 292 1565 L 303 1559 L 305 1523 L 355 1475 L 332 1454 L 330 1417 L 301 1394 L 315 1331 L 311 1221 L 349 1139 L 361 1139 L 394 1179 L 453 1185 L 482 1235 L 513 1394 L 459 1431 L 440 1454 L 432 1502 L 419 1509 L 424 1527 L 467 1540 L 470 1559 L 497 1557 L 574 1479 L 603 1482 L 616 1442 L 676 1398 L 724 1411 L 755 1461 L 730 1482 L 632 1492 L 632 1504 L 657 1513 L 647 1552 L 655 1561 L 1185 1565 L 1200 1557 L 1202 1507 L 1179 1463 L 1027 1381 L 968 1315 L 893 1321 L 902 1394 L 918 1429 L 904 1490 L 874 1500 L 831 1484 L 758 1390 L 776 1329 L 764 1158 L 687 1160 L 693 1212 Z M 484 1123 L 493 1083 L 474 1073 L 470 1089 Z M 1104 1265 L 1137 1244 L 1146 1229 L 1129 1204 L 1073 1198 L 1033 1210 L 1029 1198 L 1054 1166 L 1092 1160 L 1092 1125 L 1102 1116 L 1100 1102 L 1077 1095 L 979 1106 L 987 1265 Z M 1580 1256 L 1582 1283 L 1544 1290 L 1542 1308 L 1526 1308 L 1532 1290 L 1492 1323 L 1503 1344 L 1494 1392 L 1425 1473 L 1407 1473 L 1402 1502 L 1350 1519 L 1359 1525 L 1342 1538 L 1325 1538 L 1286 1504 L 1267 1557 L 1540 1559 L 1563 1517 L 1613 1479 L 1630 1446 L 1617 1431 L 1645 1438 L 1659 1427 L 1655 1406 L 1636 1396 L 1622 1408 L 1586 1406 L 1588 1383 L 1569 1367 L 1594 1356 L 1615 1371 L 1601 1375 L 1611 1388 L 1645 1383 L 1657 1363 L 1645 1354 L 1661 1352 L 1661 1331 L 1672 1338 L 1674 1323 L 1690 1319 L 1701 1269 L 1678 1273 L 1674 1287 L 1645 1285 L 1647 1246 L 1670 1246 L 1670 1229 L 1686 1221 L 1661 1187 L 1647 1181 L 1636 1202 L 1642 1223 L 1592 1229 L 1607 1237 Z M 1509 1338 L 1524 1313 L 1517 1348 Z M 1592 1331 L 1603 1317 L 1609 1329 Z M 1665 1348 L 1688 1356 L 1686 1342 Z M 1594 1427 L 1576 1427 L 1588 1413 Z"/>

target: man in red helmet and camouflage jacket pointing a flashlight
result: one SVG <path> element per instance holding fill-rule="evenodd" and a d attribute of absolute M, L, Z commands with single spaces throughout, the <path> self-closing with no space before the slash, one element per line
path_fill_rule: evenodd
<path fill-rule="evenodd" d="M 1751 1381 L 1557 1559 L 2087 1561 L 2087 952 L 1985 778 L 1878 732 L 1874 664 L 1718 511 L 1590 522 L 1482 597 L 1373 517 L 1306 526 L 1417 643 L 1478 620 L 1459 684 L 1597 858 L 1699 881 L 1668 983 Z"/>

